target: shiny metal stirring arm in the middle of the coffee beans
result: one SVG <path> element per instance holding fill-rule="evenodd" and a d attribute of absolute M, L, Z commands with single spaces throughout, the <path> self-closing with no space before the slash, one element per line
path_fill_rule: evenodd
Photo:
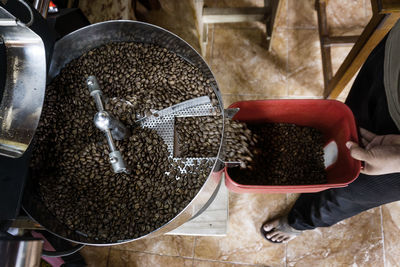
<path fill-rule="evenodd" d="M 107 138 L 108 147 L 110 149 L 109 161 L 115 173 L 129 173 L 126 168 L 121 152 L 115 147 L 114 140 L 122 140 L 129 135 L 128 129 L 115 117 L 104 110 L 101 100 L 102 92 L 95 76 L 89 76 L 86 80 L 90 95 L 93 97 L 98 112 L 94 115 L 94 124 L 104 132 Z"/>

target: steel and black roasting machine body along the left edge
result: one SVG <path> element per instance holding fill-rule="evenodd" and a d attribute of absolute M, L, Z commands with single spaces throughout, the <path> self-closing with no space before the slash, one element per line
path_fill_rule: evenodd
<path fill-rule="evenodd" d="M 0 6 L 0 265 L 38 266 L 41 239 L 2 232 L 19 210 L 47 74 L 44 42 L 29 28 L 38 14 L 23 1 L 13 4 L 27 19 L 20 20 Z"/>

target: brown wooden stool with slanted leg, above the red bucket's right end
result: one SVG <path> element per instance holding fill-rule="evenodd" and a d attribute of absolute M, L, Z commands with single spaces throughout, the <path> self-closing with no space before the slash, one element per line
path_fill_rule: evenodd
<path fill-rule="evenodd" d="M 321 43 L 324 97 L 335 99 L 364 64 L 371 51 L 400 18 L 400 0 L 371 0 L 373 15 L 360 36 L 329 36 L 326 20 L 327 2 L 328 0 L 316 0 L 315 7 Z M 333 76 L 330 48 L 352 43 L 354 43 L 353 48 Z"/>

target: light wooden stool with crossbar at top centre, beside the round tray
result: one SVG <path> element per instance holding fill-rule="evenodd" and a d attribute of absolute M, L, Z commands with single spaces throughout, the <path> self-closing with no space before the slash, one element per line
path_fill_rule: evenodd
<path fill-rule="evenodd" d="M 266 25 L 267 48 L 271 49 L 271 42 L 274 38 L 274 23 L 279 10 L 280 0 L 264 0 L 264 7 L 241 7 L 241 8 L 209 8 L 203 6 L 203 0 L 196 0 L 196 5 L 201 7 L 199 21 L 199 32 L 202 54 L 205 54 L 205 47 L 208 40 L 208 26 L 214 23 L 237 23 L 248 21 L 262 21 Z"/>

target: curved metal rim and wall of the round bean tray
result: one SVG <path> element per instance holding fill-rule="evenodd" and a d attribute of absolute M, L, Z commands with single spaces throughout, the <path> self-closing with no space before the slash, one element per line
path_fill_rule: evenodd
<path fill-rule="evenodd" d="M 168 32 L 160 27 L 153 26 L 137 21 L 108 21 L 79 29 L 59 40 L 54 47 L 54 54 L 50 65 L 48 81 L 51 81 L 60 70 L 71 60 L 81 56 L 86 51 L 95 47 L 107 44 L 110 42 L 141 42 L 156 44 L 165 47 L 168 50 L 176 53 L 189 64 L 199 68 L 206 79 L 210 80 L 210 84 L 214 89 L 219 100 L 219 109 L 223 110 L 221 93 L 218 89 L 217 82 L 210 68 L 205 63 L 203 58 L 184 40 L 175 34 Z M 223 138 L 223 118 L 224 113 L 221 112 L 221 140 Z M 222 142 L 221 142 L 222 144 Z M 221 144 L 219 154 L 221 153 Z M 37 188 L 32 180 L 29 180 L 24 193 L 23 208 L 37 222 L 47 228 L 54 234 L 63 237 L 67 240 L 92 245 L 116 245 L 126 243 L 142 238 L 154 237 L 167 233 L 183 223 L 190 220 L 198 213 L 205 205 L 207 205 L 212 194 L 216 190 L 221 181 L 222 170 L 224 163 L 218 158 L 215 160 L 210 176 L 204 183 L 201 190 L 193 198 L 193 200 L 182 210 L 174 219 L 156 229 L 155 231 L 130 240 L 120 240 L 117 243 L 101 243 L 98 240 L 93 240 L 83 236 L 80 233 L 71 231 L 64 224 L 60 223 L 42 203 Z"/>

